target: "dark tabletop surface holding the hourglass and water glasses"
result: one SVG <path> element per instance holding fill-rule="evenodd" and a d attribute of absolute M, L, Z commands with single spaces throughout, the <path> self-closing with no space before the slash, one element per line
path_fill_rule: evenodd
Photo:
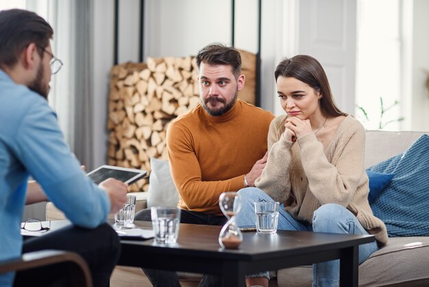
<path fill-rule="evenodd" d="M 135 221 L 136 227 L 150 228 L 151 222 Z M 181 224 L 177 243 L 161 245 L 154 240 L 123 240 L 130 246 L 151 246 L 169 254 L 193 253 L 194 256 L 230 258 L 233 260 L 265 260 L 273 257 L 293 256 L 301 253 L 341 249 L 374 241 L 373 236 L 358 236 L 310 231 L 278 231 L 277 233 L 243 232 L 243 242 L 236 249 L 222 249 L 219 245 L 221 227 Z M 162 253 L 163 251 L 158 250 Z"/>

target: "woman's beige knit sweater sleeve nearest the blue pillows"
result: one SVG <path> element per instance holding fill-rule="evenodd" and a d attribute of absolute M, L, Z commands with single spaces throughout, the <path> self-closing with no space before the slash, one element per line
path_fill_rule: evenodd
<path fill-rule="evenodd" d="M 317 141 L 313 133 L 299 138 L 297 143 L 308 187 L 315 198 L 321 205 L 337 203 L 347 207 L 365 172 L 363 127 L 350 126 L 340 139 L 332 142 L 336 146 L 331 162 L 326 158 L 323 145 Z"/>

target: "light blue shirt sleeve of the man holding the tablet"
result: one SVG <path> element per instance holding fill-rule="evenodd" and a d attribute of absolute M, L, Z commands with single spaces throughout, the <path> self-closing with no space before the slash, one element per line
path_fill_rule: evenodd
<path fill-rule="evenodd" d="M 44 100 L 34 101 L 21 120 L 14 135 L 14 154 L 75 225 L 93 228 L 106 221 L 108 195 L 85 176 Z"/>

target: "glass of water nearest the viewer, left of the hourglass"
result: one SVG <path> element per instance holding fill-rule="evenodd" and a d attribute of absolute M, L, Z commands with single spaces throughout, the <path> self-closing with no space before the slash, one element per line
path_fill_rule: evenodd
<path fill-rule="evenodd" d="M 152 226 L 156 243 L 171 244 L 177 241 L 180 228 L 180 208 L 151 207 Z"/>

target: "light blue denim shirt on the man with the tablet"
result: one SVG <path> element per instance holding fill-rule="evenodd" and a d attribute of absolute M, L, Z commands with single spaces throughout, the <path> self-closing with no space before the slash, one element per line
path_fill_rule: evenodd
<path fill-rule="evenodd" d="M 75 225 L 106 221 L 108 195 L 81 170 L 47 100 L 0 70 L 0 261 L 21 255 L 29 175 Z M 11 286 L 13 276 L 0 275 L 0 286 Z"/>

